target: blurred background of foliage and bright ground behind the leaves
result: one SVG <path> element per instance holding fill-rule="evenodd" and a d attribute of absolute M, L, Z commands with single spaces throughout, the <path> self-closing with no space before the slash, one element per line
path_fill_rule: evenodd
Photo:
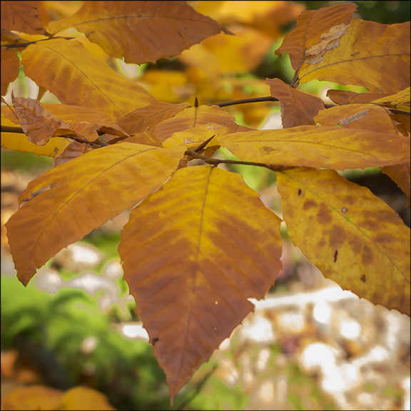
<path fill-rule="evenodd" d="M 410 20 L 410 1 L 354 2 L 355 17 L 361 19 L 382 24 Z M 137 66 L 107 56 L 78 32 L 70 35 L 160 101 L 193 104 L 197 97 L 201 104 L 220 103 L 268 96 L 265 78 L 290 83 L 288 55 L 280 59 L 275 49 L 301 11 L 342 1 L 188 3 L 236 36 L 213 36 L 181 56 Z M 46 23 L 70 16 L 82 2 L 39 4 Z M 331 103 L 325 96 L 328 89 L 345 89 L 320 81 L 299 88 L 326 103 Z M 8 102 L 11 91 L 16 96 L 39 95 L 23 69 L 9 88 Z M 41 101 L 58 102 L 48 92 Z M 225 109 L 239 124 L 281 128 L 278 103 Z M 32 408 L 19 408 L 19 394 L 10 397 L 16 388 L 34 385 L 62 391 L 82 385 L 103 393 L 111 404 L 90 410 L 410 410 L 410 318 L 325 279 L 293 246 L 285 226 L 283 270 L 270 293 L 255 301 L 255 313 L 200 367 L 171 407 L 163 371 L 122 280 L 117 247 L 127 212 L 62 250 L 27 288 L 16 279 L 4 224 L 18 208 L 19 193 L 52 164 L 52 158 L 1 148 L 2 410 L 39 410 L 34 402 L 26 405 Z M 228 169 L 240 173 L 281 216 L 275 173 Z M 380 169 L 344 175 L 369 187 L 410 225 L 407 198 Z M 50 392 L 46 396 L 51 397 Z"/>

